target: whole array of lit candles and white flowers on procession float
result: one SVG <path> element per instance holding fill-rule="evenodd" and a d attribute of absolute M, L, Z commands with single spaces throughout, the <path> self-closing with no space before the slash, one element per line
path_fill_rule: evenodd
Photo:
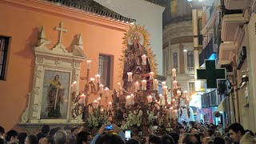
<path fill-rule="evenodd" d="M 127 72 L 123 82 L 118 82 L 118 90 L 113 90 L 112 100 L 108 102 L 109 89 L 103 89 L 100 83 L 100 75 L 90 78 L 90 60 L 87 60 L 85 88 L 78 93 L 76 82 L 72 84 L 72 109 L 73 118 L 82 114 L 85 126 L 95 127 L 103 123 L 111 122 L 123 129 L 133 129 L 134 134 L 146 135 L 150 126 L 158 126 L 158 131 L 178 126 L 178 118 L 181 117 L 181 101 L 186 98 L 186 91 L 181 91 L 176 81 L 176 70 L 173 69 L 173 89 L 162 82 L 162 94 L 158 94 L 158 79 L 153 72 L 147 72 L 145 59 L 142 55 L 142 66 L 139 72 Z M 167 102 L 170 91 L 174 98 Z M 183 94 L 183 95 L 182 95 Z M 96 99 L 88 102 L 90 95 Z M 105 96 L 105 106 L 102 104 L 102 96 Z M 91 108 L 91 110 L 89 110 Z M 97 120 L 95 120 L 97 119 Z M 101 121 L 101 122 L 99 122 Z M 95 124 L 95 122 L 98 122 Z M 93 124 L 92 124 L 93 123 Z M 160 132 L 159 132 L 160 133 Z"/>

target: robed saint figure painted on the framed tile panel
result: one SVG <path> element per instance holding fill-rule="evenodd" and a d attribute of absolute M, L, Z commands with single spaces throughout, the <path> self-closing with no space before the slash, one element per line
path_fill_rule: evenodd
<path fill-rule="evenodd" d="M 49 105 L 47 107 L 49 118 L 62 118 L 60 112 L 60 104 L 64 100 L 64 86 L 59 82 L 59 76 L 55 75 L 50 82 L 50 87 L 47 92 L 49 98 Z"/>

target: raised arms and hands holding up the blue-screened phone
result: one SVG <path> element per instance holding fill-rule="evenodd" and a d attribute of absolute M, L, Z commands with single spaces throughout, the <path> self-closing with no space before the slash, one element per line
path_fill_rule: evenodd
<path fill-rule="evenodd" d="M 94 144 L 96 140 L 103 134 L 103 133 L 112 133 L 118 134 L 120 138 L 122 138 L 122 141 L 125 142 L 125 134 L 122 132 L 122 130 L 116 126 L 115 124 L 112 124 L 113 130 L 106 130 L 106 125 L 102 125 L 102 127 L 98 130 L 98 134 L 95 135 L 94 139 L 91 141 L 91 144 Z M 104 137 L 105 138 L 105 137 Z"/>

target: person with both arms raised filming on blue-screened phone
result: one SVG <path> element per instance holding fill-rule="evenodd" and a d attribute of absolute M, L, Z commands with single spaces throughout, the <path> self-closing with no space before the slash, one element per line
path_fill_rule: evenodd
<path fill-rule="evenodd" d="M 91 144 L 123 144 L 125 143 L 125 134 L 122 130 L 116 126 L 112 125 L 102 125 L 98 130 L 98 134 L 95 135 L 94 139 L 90 142 Z"/>

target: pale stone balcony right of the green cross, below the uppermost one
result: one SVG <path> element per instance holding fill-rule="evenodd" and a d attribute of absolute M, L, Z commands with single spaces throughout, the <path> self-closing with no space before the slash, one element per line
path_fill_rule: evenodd
<path fill-rule="evenodd" d="M 218 65 L 230 64 L 235 55 L 234 42 L 224 42 L 219 46 Z"/>

